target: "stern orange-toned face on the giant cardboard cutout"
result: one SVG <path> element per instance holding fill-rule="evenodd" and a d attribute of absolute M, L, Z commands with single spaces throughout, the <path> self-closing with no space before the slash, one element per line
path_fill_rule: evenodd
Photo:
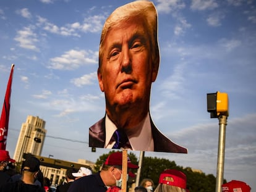
<path fill-rule="evenodd" d="M 150 35 L 143 19 L 130 19 L 112 27 L 103 43 L 98 80 L 105 92 L 107 110 L 148 106 L 158 64 L 152 61 Z"/>

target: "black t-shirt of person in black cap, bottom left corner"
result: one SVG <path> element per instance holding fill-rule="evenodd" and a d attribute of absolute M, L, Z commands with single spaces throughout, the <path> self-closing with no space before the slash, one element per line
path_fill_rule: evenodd
<path fill-rule="evenodd" d="M 41 186 L 26 184 L 20 180 L 2 185 L 0 192 L 45 192 L 45 190 Z"/>

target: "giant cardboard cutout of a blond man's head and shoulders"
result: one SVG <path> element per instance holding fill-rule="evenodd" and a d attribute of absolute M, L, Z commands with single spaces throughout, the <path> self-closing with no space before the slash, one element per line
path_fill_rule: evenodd
<path fill-rule="evenodd" d="M 98 67 L 106 112 L 89 128 L 90 147 L 187 153 L 156 128 L 150 115 L 151 83 L 160 65 L 157 22 L 150 1 L 130 2 L 106 19 Z"/>

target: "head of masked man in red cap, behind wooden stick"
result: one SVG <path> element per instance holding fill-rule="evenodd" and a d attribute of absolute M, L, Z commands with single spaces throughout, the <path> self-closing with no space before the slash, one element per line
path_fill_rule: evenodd
<path fill-rule="evenodd" d="M 139 166 L 132 164 L 129 157 L 127 157 L 127 169 L 138 169 Z M 132 172 L 127 174 L 134 176 Z M 108 186 L 119 186 L 122 184 L 122 152 L 113 152 L 109 154 L 103 167 L 101 169 L 101 178 Z"/>

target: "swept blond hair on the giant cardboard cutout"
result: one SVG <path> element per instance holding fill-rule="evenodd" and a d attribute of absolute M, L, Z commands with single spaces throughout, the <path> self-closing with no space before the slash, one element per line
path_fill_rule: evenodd
<path fill-rule="evenodd" d="M 152 52 L 152 61 L 159 60 L 159 48 L 158 48 L 158 21 L 157 12 L 155 6 L 150 1 L 134 1 L 124 6 L 118 7 L 109 15 L 108 19 L 103 26 L 100 38 L 99 49 L 99 69 L 102 65 L 102 59 L 104 54 L 105 38 L 109 30 L 113 27 L 118 27 L 122 22 L 132 20 L 136 17 L 140 17 L 144 20 L 148 29 L 148 35 L 150 36 L 150 48 Z"/>

